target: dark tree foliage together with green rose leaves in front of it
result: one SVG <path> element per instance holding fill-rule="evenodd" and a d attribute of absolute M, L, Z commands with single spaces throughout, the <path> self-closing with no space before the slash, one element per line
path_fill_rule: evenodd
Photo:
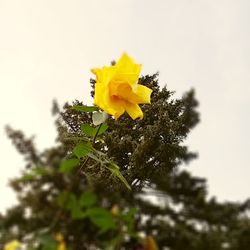
<path fill-rule="evenodd" d="M 43 152 L 7 129 L 26 166 L 11 181 L 19 204 L 0 215 L 0 249 L 27 235 L 55 249 L 56 233 L 72 250 L 147 249 L 141 234 L 154 236 L 159 249 L 249 249 L 249 202 L 208 198 L 206 181 L 184 170 L 196 157 L 185 145 L 199 121 L 194 91 L 174 99 L 157 75 L 140 84 L 153 89 L 143 120 L 123 115 L 95 127 L 96 107 L 54 107 L 57 144 Z"/>

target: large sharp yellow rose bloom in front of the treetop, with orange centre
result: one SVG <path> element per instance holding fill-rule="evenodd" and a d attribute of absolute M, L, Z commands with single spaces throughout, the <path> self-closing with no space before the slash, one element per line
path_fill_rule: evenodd
<path fill-rule="evenodd" d="M 142 119 L 138 104 L 150 103 L 152 90 L 137 83 L 140 71 L 141 65 L 125 53 L 113 66 L 92 69 L 96 75 L 94 103 L 115 119 L 125 111 L 132 119 Z"/>

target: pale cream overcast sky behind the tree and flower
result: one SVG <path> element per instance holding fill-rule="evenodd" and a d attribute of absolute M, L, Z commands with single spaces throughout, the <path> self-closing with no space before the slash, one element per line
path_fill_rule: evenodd
<path fill-rule="evenodd" d="M 24 166 L 4 127 L 55 141 L 52 100 L 91 104 L 90 69 L 127 52 L 161 86 L 196 90 L 200 124 L 183 168 L 221 201 L 250 197 L 249 0 L 0 0 L 0 211 Z"/>

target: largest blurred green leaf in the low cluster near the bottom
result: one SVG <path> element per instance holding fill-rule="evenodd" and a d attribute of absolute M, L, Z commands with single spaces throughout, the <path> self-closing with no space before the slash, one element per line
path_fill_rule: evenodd
<path fill-rule="evenodd" d="M 116 228 L 112 214 L 105 208 L 90 208 L 87 210 L 86 214 L 90 220 L 102 231 Z"/>

